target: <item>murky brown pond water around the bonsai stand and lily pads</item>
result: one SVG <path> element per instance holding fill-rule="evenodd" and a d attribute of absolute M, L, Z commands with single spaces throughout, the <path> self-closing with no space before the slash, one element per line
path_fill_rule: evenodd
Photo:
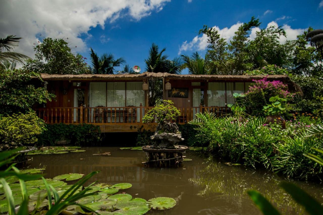
<path fill-rule="evenodd" d="M 178 169 L 145 168 L 144 152 L 120 150 L 116 147 L 88 147 L 86 152 L 56 155 L 35 155 L 28 164 L 32 168 L 46 166 L 45 178 L 65 173 L 88 174 L 100 170 L 91 182 L 132 184 L 127 193 L 146 200 L 165 196 L 178 204 L 171 210 L 158 214 L 260 214 L 246 194 L 257 189 L 283 214 L 302 214 L 304 210 L 278 187 L 281 178 L 264 171 L 254 171 L 241 166 L 229 166 L 218 161 L 208 161 L 197 152 L 186 153 L 193 161 L 183 162 Z M 92 155 L 111 152 L 110 156 Z M 31 156 L 30 156 L 31 157 Z M 320 184 L 297 182 L 312 196 L 323 202 Z"/>

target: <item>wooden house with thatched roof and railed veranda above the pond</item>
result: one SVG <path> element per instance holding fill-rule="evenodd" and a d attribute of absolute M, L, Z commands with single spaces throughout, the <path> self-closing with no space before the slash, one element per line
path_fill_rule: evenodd
<path fill-rule="evenodd" d="M 41 74 L 45 87 L 56 99 L 36 108 L 46 123 L 90 123 L 102 132 L 137 132 L 137 128 L 154 130 L 156 123 L 146 125 L 142 117 L 149 106 L 149 81 L 162 81 L 163 99 L 172 100 L 181 111 L 178 123 L 187 123 L 196 113 L 209 111 L 218 116 L 227 113 L 226 104 L 235 102 L 233 93 L 244 93 L 253 80 L 265 76 L 141 74 Z M 269 75 L 295 90 L 288 76 Z"/>

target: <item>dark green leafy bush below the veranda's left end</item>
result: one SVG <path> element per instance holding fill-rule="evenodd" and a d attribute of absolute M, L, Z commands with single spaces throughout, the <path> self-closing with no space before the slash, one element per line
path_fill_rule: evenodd
<path fill-rule="evenodd" d="M 102 141 L 99 126 L 92 124 L 46 124 L 46 130 L 38 137 L 38 146 L 55 145 L 67 140 L 71 145 L 97 145 Z"/>

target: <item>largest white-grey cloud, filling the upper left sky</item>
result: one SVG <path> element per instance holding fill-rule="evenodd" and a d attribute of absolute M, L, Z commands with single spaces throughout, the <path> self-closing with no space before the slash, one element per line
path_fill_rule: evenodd
<path fill-rule="evenodd" d="M 17 35 L 23 37 L 16 52 L 34 56 L 33 44 L 45 37 L 69 38 L 74 51 L 87 50 L 88 31 L 96 26 L 104 28 L 106 20 L 114 22 L 127 16 L 140 20 L 151 12 L 160 11 L 171 0 L 78 0 L 78 1 L 4 1 L 0 7 L 0 37 Z M 4 18 L 5 17 L 5 18 Z"/>

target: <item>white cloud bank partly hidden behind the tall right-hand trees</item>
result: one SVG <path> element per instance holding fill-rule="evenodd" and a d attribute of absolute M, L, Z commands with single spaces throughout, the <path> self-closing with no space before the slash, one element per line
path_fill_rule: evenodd
<path fill-rule="evenodd" d="M 236 32 L 238 30 L 238 28 L 239 28 L 239 26 L 241 26 L 241 24 L 242 23 L 238 22 L 229 28 L 225 27 L 225 28 L 220 29 L 218 26 L 214 26 L 214 28 L 219 31 L 219 34 L 221 37 L 225 38 L 225 40 L 227 42 L 229 42 L 232 39 L 232 37 L 234 36 L 234 32 Z M 267 28 L 270 26 L 278 27 L 278 24 L 275 21 L 272 21 L 267 24 Z M 286 37 L 281 36 L 279 38 L 279 42 L 281 44 L 285 43 L 286 40 L 295 40 L 297 38 L 297 35 L 302 34 L 306 30 L 306 29 L 302 29 L 302 28 L 293 29 L 293 28 L 291 28 L 291 26 L 289 26 L 287 24 L 283 25 L 282 28 L 284 28 L 284 30 L 286 31 Z M 260 31 L 260 28 L 258 28 L 258 27 L 252 28 L 248 39 L 253 40 L 256 36 L 257 31 Z M 205 50 L 208 45 L 207 39 L 208 39 L 207 36 L 205 34 L 203 34 L 202 36 L 195 36 L 191 42 L 188 42 L 186 40 L 179 47 L 178 55 L 180 55 L 182 53 L 182 51 Z"/>

